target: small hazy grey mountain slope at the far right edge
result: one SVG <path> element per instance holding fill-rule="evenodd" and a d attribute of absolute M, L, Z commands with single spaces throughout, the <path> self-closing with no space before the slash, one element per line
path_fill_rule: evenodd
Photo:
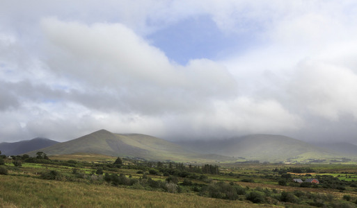
<path fill-rule="evenodd" d="M 326 150 L 331 150 L 339 155 L 344 156 L 356 156 L 357 146 L 347 142 L 334 142 L 334 143 L 315 143 L 315 146 L 325 148 Z"/>

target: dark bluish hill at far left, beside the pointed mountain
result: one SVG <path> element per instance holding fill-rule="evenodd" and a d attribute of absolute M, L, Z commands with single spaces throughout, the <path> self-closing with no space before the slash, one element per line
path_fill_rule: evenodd
<path fill-rule="evenodd" d="M 13 143 L 2 142 L 0 143 L 0 150 L 3 155 L 22 155 L 24 153 L 38 150 L 40 148 L 46 148 L 57 143 L 58 141 L 38 137 L 31 140 L 17 141 Z"/>

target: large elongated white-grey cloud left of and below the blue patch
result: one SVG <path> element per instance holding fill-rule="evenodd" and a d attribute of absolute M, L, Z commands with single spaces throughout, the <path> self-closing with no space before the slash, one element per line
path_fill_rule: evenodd
<path fill-rule="evenodd" d="M 86 87 L 95 86 L 97 91 L 107 87 L 114 98 L 138 112 L 148 106 L 165 111 L 167 105 L 173 110 L 174 105 L 185 107 L 186 102 L 194 105 L 199 99 L 235 92 L 235 80 L 223 66 L 205 59 L 192 60 L 187 66 L 170 62 L 162 51 L 122 24 L 86 26 L 45 19 L 42 25 L 56 45 L 47 62 L 54 73 Z M 141 103 L 145 107 L 138 106 Z"/>

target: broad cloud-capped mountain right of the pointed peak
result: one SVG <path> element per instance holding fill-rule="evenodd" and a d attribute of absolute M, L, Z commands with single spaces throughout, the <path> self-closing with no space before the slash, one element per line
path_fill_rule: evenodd
<path fill-rule="evenodd" d="M 338 157 L 331 150 L 281 135 L 247 135 L 220 141 L 179 141 L 177 144 L 200 153 L 214 153 L 261 162 L 280 162 L 289 158 L 321 159 Z"/>

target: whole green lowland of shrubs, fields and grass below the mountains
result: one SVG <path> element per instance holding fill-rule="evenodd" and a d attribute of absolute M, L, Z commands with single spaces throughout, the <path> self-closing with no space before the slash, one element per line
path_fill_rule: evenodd
<path fill-rule="evenodd" d="M 356 207 L 357 202 L 355 165 L 218 166 L 93 155 L 75 156 L 81 160 L 67 160 L 71 155 L 62 157 L 66 160 L 40 152 L 34 157 L 2 158 L 0 204 L 4 207 L 251 207 L 254 203 L 281 207 Z M 90 161 L 86 161 L 88 157 Z M 95 158 L 100 160 L 96 162 Z M 15 166 L 15 161 L 21 165 Z M 317 178 L 321 184 L 292 181 L 310 177 Z M 56 195 L 41 191 L 48 187 Z M 24 200 L 26 193 L 37 200 Z M 118 196 L 122 195 L 125 197 L 120 199 Z M 137 200 L 141 197 L 142 204 Z M 175 201 L 173 205 L 172 201 Z"/>

